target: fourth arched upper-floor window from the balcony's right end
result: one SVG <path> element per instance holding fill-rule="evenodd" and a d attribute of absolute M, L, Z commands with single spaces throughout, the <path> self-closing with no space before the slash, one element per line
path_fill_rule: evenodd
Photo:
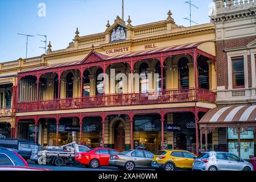
<path fill-rule="evenodd" d="M 148 92 L 148 65 L 147 63 L 142 63 L 139 67 L 139 76 L 140 76 L 140 92 Z"/>

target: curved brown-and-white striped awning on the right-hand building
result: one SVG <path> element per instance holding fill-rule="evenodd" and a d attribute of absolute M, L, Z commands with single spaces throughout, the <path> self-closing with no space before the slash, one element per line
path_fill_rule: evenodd
<path fill-rule="evenodd" d="M 203 123 L 253 122 L 256 121 L 256 105 L 216 107 L 200 120 Z"/>

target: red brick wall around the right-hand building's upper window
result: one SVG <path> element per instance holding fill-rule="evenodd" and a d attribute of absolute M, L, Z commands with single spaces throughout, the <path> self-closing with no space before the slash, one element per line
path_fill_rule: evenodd
<path fill-rule="evenodd" d="M 234 48 L 247 46 L 250 42 L 256 39 L 256 36 L 249 38 L 232 39 L 232 40 L 221 40 L 216 42 L 217 51 L 217 86 L 225 86 L 228 89 L 228 56 L 224 52 L 225 48 Z M 249 64 L 248 64 L 249 67 Z M 251 73 L 251 68 L 249 70 Z M 249 74 L 249 73 L 248 73 Z M 249 76 L 249 85 L 251 82 L 251 74 Z"/>

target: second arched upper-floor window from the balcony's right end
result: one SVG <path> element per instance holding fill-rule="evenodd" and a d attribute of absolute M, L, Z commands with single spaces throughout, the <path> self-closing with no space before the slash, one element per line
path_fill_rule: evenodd
<path fill-rule="evenodd" d="M 188 59 L 183 57 L 179 60 L 179 86 L 181 89 L 189 88 Z"/>

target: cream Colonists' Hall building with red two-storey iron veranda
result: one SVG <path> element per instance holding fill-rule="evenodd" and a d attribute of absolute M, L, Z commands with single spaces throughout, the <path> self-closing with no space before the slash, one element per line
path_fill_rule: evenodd
<path fill-rule="evenodd" d="M 139 26 L 117 16 L 100 34 L 77 29 L 66 49 L 2 63 L 1 75 L 18 72 L 12 137 L 198 154 L 199 119 L 216 107 L 215 27 L 171 15 Z"/>

